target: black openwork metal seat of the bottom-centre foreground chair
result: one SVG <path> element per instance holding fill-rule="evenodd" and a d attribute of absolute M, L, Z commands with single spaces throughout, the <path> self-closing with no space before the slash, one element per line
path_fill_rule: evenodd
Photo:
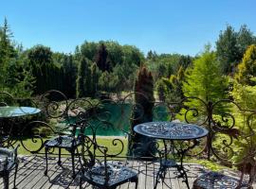
<path fill-rule="evenodd" d="M 126 181 L 137 180 L 137 173 L 134 170 L 120 164 L 107 163 L 107 173 L 109 180 L 106 183 L 105 166 L 97 164 L 83 176 L 87 182 L 101 188 L 115 188 Z"/>

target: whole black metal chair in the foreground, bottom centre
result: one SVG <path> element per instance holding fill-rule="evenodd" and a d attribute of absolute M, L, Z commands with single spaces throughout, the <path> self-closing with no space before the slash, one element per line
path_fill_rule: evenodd
<path fill-rule="evenodd" d="M 82 188 L 83 180 L 102 189 L 114 189 L 128 181 L 135 182 L 137 188 L 137 172 L 120 163 L 108 163 L 107 157 L 112 156 L 107 155 L 106 146 L 99 146 L 96 140 L 85 136 L 83 147 L 80 188 Z M 103 160 L 96 159 L 96 150 L 103 154 Z"/>

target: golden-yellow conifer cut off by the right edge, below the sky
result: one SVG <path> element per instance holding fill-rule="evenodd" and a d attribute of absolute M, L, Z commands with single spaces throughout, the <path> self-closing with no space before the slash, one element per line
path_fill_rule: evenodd
<path fill-rule="evenodd" d="M 252 44 L 247 48 L 242 62 L 238 65 L 238 73 L 235 78 L 241 84 L 255 85 L 251 80 L 256 77 L 256 45 Z"/>

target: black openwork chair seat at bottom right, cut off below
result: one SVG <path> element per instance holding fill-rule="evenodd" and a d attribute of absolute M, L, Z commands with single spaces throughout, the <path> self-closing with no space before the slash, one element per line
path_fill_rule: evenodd
<path fill-rule="evenodd" d="M 194 180 L 193 189 L 236 189 L 239 185 L 239 180 L 233 177 L 224 175 L 218 172 L 208 172 L 201 175 L 199 178 Z M 247 189 L 247 181 L 243 180 L 240 189 Z"/>

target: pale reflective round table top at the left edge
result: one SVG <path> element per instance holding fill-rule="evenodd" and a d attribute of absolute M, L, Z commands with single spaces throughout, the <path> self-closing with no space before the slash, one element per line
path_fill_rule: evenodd
<path fill-rule="evenodd" d="M 41 110 L 33 107 L 12 107 L 12 106 L 0 107 L 1 118 L 32 115 L 38 112 L 41 112 Z"/>

